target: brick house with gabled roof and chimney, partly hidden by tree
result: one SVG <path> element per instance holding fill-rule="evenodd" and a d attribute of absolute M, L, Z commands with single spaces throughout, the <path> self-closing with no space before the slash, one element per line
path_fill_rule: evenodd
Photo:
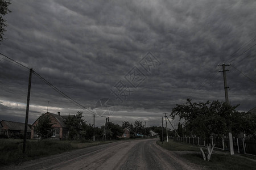
<path fill-rule="evenodd" d="M 53 114 L 53 113 L 44 113 L 44 115 L 49 115 L 50 120 L 53 123 L 53 133 L 52 133 L 52 139 L 65 139 L 68 138 L 68 128 L 65 125 L 65 119 L 68 118 L 68 116 L 61 116 L 60 112 L 58 114 Z M 40 116 L 41 117 L 41 116 Z M 34 132 L 34 127 L 36 124 L 38 124 L 39 118 L 32 124 L 31 128 L 31 139 L 38 138 L 38 135 Z"/>

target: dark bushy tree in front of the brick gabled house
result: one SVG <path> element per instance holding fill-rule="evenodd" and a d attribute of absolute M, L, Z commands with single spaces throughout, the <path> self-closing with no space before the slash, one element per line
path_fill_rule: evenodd
<path fill-rule="evenodd" d="M 38 139 L 46 139 L 52 136 L 52 121 L 48 114 L 39 117 L 38 124 L 35 125 L 34 131 L 38 135 Z"/>

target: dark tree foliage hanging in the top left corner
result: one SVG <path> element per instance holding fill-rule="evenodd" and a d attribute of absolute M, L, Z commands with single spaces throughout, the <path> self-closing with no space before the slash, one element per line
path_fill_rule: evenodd
<path fill-rule="evenodd" d="M 8 12 L 11 12 L 8 7 L 10 5 L 10 0 L 0 0 L 0 41 L 3 41 L 3 35 L 6 31 L 5 27 L 7 26 L 6 24 L 6 19 L 3 19 L 3 16 L 5 16 Z"/>

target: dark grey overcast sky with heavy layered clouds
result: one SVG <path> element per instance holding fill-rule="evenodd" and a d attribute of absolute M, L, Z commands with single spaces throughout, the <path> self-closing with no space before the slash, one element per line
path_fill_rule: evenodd
<path fill-rule="evenodd" d="M 256 107 L 254 0 L 11 3 L 0 52 L 117 124 L 160 126 L 162 113 L 187 98 L 225 101 L 222 63 L 234 66 L 226 66 L 230 104 Z M 0 56 L 0 120 L 24 122 L 29 70 L 11 62 Z M 106 99 L 114 112 L 100 107 Z M 48 101 L 49 112 L 83 111 L 93 123 L 92 112 L 32 74 L 30 124 Z"/>

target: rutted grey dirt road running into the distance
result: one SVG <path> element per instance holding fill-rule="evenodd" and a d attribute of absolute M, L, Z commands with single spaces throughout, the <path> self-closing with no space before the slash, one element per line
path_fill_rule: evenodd
<path fill-rule="evenodd" d="M 64 152 L 3 169 L 198 169 L 156 145 L 156 139 L 120 141 Z"/>

